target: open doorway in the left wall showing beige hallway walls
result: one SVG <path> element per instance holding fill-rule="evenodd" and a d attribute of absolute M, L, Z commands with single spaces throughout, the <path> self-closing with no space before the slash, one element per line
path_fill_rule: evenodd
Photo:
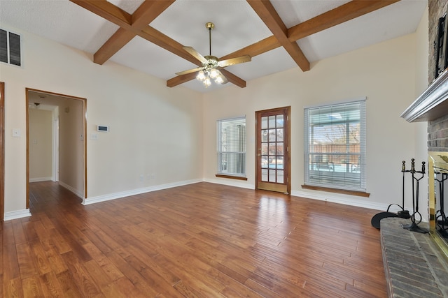
<path fill-rule="evenodd" d="M 29 183 L 57 181 L 87 198 L 86 99 L 26 89 L 27 208 Z"/>

